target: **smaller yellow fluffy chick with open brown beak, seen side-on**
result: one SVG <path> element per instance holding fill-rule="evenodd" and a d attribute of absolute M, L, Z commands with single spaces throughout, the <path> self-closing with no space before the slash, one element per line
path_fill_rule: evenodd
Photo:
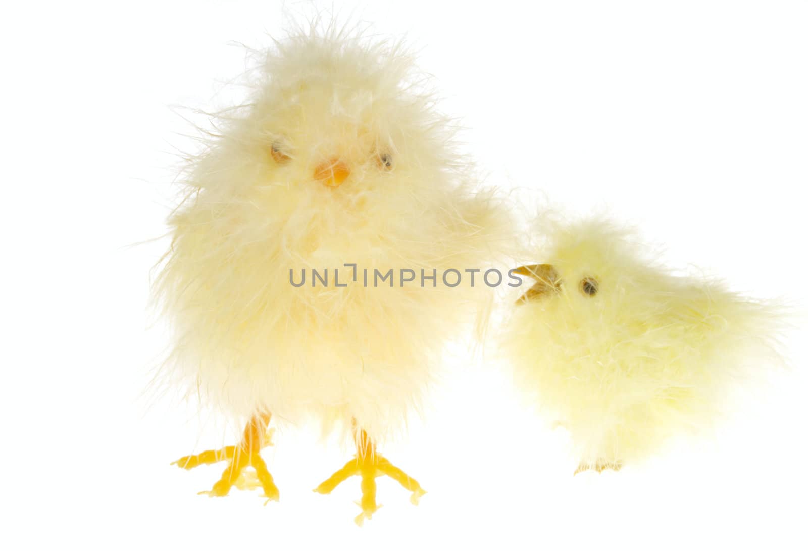
<path fill-rule="evenodd" d="M 776 361 L 777 309 L 672 276 L 604 220 L 549 230 L 504 334 L 516 380 L 570 432 L 579 470 L 620 469 L 709 423 L 728 385 Z"/>

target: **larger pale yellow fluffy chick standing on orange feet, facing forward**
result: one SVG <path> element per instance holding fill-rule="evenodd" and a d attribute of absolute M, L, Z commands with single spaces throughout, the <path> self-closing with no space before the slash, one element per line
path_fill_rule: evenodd
<path fill-rule="evenodd" d="M 344 423 L 357 457 L 317 491 L 360 475 L 360 522 L 377 509 L 374 477 L 414 501 L 423 493 L 375 444 L 402 428 L 444 343 L 485 297 L 422 287 L 420 271 L 440 282 L 448 268 L 484 267 L 507 222 L 490 193 L 473 191 L 451 122 L 398 45 L 332 27 L 260 56 L 249 102 L 218 116 L 192 159 L 158 281 L 175 328 L 168 376 L 246 430 L 239 446 L 179 465 L 229 460 L 212 495 L 251 465 L 277 498 L 259 456 L 270 416 Z M 313 269 L 328 269 L 327 286 Z M 375 286 L 374 270 L 390 269 L 393 286 Z M 416 275 L 403 287 L 402 269 Z"/>

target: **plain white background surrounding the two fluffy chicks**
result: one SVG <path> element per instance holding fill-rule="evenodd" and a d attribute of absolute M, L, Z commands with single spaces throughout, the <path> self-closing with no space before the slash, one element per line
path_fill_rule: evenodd
<path fill-rule="evenodd" d="M 572 212 L 608 205 L 675 266 L 806 304 L 808 3 L 353 4 L 335 9 L 419 48 L 488 183 Z M 419 507 L 380 480 L 385 507 L 356 528 L 358 482 L 311 492 L 350 451 L 307 427 L 265 452 L 280 503 L 197 496 L 224 465 L 169 462 L 234 434 L 141 396 L 166 347 L 147 313 L 166 241 L 147 241 L 165 230 L 189 131 L 169 106 L 215 106 L 244 69 L 229 43 L 267 45 L 282 6 L 3 11 L 3 547 L 806 549 L 804 326 L 793 370 L 718 431 L 621 473 L 573 477 L 563 435 L 520 405 L 502 366 L 465 367 L 459 351 L 426 422 L 384 450 L 429 491 Z"/>

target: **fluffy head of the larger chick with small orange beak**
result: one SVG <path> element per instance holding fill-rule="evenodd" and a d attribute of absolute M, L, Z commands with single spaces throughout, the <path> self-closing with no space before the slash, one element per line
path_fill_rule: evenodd
<path fill-rule="evenodd" d="M 262 55 L 249 102 L 225 111 L 196 159 L 197 206 L 228 207 L 241 232 L 282 220 L 289 233 L 344 233 L 373 217 L 395 225 L 455 185 L 451 125 L 400 48 L 331 32 Z"/>

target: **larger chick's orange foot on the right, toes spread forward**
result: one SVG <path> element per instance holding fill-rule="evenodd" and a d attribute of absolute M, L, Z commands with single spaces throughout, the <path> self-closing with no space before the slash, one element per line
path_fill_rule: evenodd
<path fill-rule="evenodd" d="M 376 452 L 376 446 L 371 443 L 365 431 L 360 431 L 356 435 L 356 456 L 354 459 L 348 461 L 342 469 L 332 474 L 326 482 L 323 482 L 314 491 L 318 492 L 318 494 L 330 494 L 342 482 L 354 475 L 362 477 L 362 499 L 359 502 L 362 512 L 354 519 L 358 526 L 364 523 L 364 519 L 371 518 L 373 513 L 381 507 L 376 503 L 376 477 L 387 475 L 404 486 L 406 490 L 410 490 L 412 492 L 410 501 L 413 505 L 418 505 L 419 498 L 427 493 L 415 481 L 415 478 L 410 478 L 402 469 L 379 455 Z"/>

